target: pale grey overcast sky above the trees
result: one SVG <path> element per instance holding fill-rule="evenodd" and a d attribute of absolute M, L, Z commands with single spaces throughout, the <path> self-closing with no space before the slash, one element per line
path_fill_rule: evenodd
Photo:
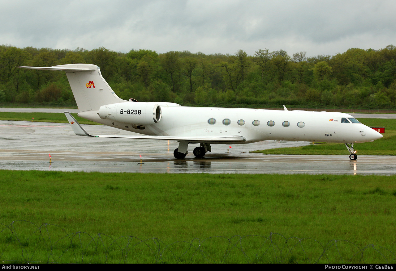
<path fill-rule="evenodd" d="M 0 0 L 0 44 L 335 55 L 396 45 L 395 0 Z"/>

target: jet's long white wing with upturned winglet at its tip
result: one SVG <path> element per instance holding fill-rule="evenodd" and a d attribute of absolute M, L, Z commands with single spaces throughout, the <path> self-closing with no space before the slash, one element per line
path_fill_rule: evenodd
<path fill-rule="evenodd" d="M 154 139 L 154 140 L 174 140 L 174 141 L 189 141 L 190 143 L 196 142 L 213 142 L 213 143 L 220 143 L 220 142 L 245 142 L 246 138 L 243 136 L 190 136 L 190 137 L 181 137 L 181 136 L 144 136 L 144 135 L 91 135 L 82 128 L 80 123 L 77 122 L 76 119 L 69 113 L 65 113 L 67 120 L 69 121 L 70 125 L 72 126 L 74 134 L 77 136 L 91 136 L 91 137 L 118 137 L 118 138 L 131 138 L 131 139 Z"/>

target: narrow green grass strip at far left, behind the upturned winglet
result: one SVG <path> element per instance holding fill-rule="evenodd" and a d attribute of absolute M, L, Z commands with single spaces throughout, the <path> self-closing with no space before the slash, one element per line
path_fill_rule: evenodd
<path fill-rule="evenodd" d="M 78 117 L 77 114 L 72 113 L 73 117 L 80 122 L 80 124 L 98 124 L 91 120 L 86 120 Z M 64 113 L 26 113 L 26 112 L 0 112 L 0 120 L 22 120 L 22 121 L 34 121 L 39 122 L 57 122 L 57 123 L 68 123 Z"/>

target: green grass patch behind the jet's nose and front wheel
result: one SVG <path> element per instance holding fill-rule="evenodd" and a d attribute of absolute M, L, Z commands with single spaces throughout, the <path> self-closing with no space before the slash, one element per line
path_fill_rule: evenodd
<path fill-rule="evenodd" d="M 383 138 L 373 142 L 355 144 L 358 155 L 396 155 L 396 119 L 359 119 L 367 126 L 384 126 Z M 328 154 L 346 155 L 348 150 L 343 143 L 311 144 L 304 147 L 276 148 L 262 151 L 263 154 Z"/>

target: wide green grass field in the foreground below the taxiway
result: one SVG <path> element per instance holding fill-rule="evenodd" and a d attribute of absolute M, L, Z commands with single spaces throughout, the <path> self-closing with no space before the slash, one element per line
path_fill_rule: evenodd
<path fill-rule="evenodd" d="M 396 261 L 385 250 L 396 252 L 395 176 L 6 170 L 0 176 L 0 223 L 52 224 L 42 227 L 41 240 L 53 242 L 50 254 L 58 262 L 78 262 L 81 254 L 92 262 L 104 262 L 105 254 L 107 262 L 118 262 L 120 247 L 128 247 L 127 262 L 155 262 L 158 255 L 152 251 L 158 246 L 164 249 L 163 262 L 205 262 L 208 255 L 211 262 L 277 262 L 278 248 L 273 245 L 270 252 L 264 252 L 270 232 L 284 236 L 273 234 L 272 244 L 294 246 L 292 254 L 283 250 L 286 262 L 312 262 L 323 252 L 318 244 L 325 246 L 334 239 L 349 242 L 327 245 L 330 260 L 320 262 L 359 262 L 361 253 L 356 254 L 356 247 L 369 244 L 383 247 L 377 250 L 386 257 L 367 248 L 365 262 Z M 18 241 L 10 230 L 0 233 L 0 259 L 21 259 L 21 251 L 25 256 L 30 253 L 30 261 L 48 259 L 48 247 L 39 242 L 36 226 L 15 222 L 13 230 Z M 80 231 L 85 233 L 61 239 L 65 232 Z M 150 240 L 133 247 L 122 237 L 126 235 L 134 236 L 135 243 L 137 238 Z M 231 238 L 234 235 L 261 237 L 240 240 Z M 248 257 L 234 246 L 229 248 L 228 239 L 216 236 L 243 245 Z M 114 239 L 116 245 L 104 249 Z M 189 243 L 201 245 L 204 252 L 192 253 Z"/>

